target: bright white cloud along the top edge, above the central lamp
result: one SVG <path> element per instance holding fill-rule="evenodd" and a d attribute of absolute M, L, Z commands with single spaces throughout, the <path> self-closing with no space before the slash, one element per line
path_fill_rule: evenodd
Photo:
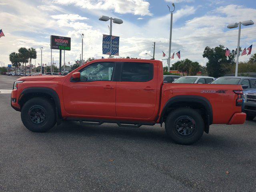
<path fill-rule="evenodd" d="M 149 2 L 145 0 L 54 0 L 56 4 L 70 5 L 88 10 L 113 10 L 116 13 L 134 15 L 150 15 Z"/>

